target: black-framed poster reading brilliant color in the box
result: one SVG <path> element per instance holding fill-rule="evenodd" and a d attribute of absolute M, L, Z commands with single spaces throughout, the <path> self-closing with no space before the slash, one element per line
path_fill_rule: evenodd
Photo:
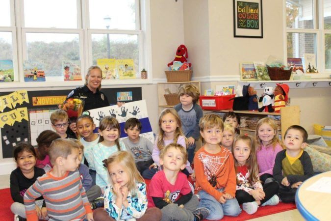
<path fill-rule="evenodd" d="M 233 35 L 263 38 L 262 0 L 233 0 Z"/>

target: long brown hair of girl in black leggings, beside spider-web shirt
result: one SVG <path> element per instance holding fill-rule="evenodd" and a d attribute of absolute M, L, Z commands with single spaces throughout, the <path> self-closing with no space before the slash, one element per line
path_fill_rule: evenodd
<path fill-rule="evenodd" d="M 255 140 L 251 136 L 238 135 L 236 138 L 234 138 L 233 145 L 232 145 L 232 155 L 233 155 L 233 160 L 234 160 L 235 172 L 236 172 L 236 174 L 238 173 L 237 167 L 240 166 L 238 164 L 238 161 L 234 158 L 235 143 L 238 140 L 244 141 L 251 148 L 250 156 L 246 160 L 246 166 L 247 166 L 247 169 L 250 172 L 250 177 L 248 178 L 248 182 L 250 184 L 253 184 L 255 182 L 259 182 L 260 180 L 259 180 L 259 177 L 258 177 L 258 165 L 257 165 L 257 160 L 256 160 Z M 236 181 L 237 181 L 238 185 L 241 184 L 241 182 L 238 180 L 237 176 L 236 176 Z"/>

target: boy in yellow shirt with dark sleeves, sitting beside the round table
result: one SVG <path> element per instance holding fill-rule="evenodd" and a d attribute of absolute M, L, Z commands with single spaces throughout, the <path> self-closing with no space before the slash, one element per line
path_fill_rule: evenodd
<path fill-rule="evenodd" d="M 290 126 L 284 135 L 285 150 L 276 156 L 274 178 L 280 184 L 279 195 L 283 202 L 294 202 L 298 187 L 314 175 L 306 147 L 308 134 L 299 125 Z"/>

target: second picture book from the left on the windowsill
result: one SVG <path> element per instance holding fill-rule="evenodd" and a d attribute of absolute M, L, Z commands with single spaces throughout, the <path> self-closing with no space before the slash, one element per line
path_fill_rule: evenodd
<path fill-rule="evenodd" d="M 38 61 L 24 60 L 24 81 L 25 82 L 45 82 L 44 64 Z"/>

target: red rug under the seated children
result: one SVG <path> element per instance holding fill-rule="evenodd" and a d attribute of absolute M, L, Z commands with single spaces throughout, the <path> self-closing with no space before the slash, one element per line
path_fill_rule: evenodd
<path fill-rule="evenodd" d="M 14 201 L 10 196 L 10 190 L 2 189 L 0 190 L 0 220 L 1 221 L 13 221 L 14 214 L 10 211 L 10 205 Z M 224 216 L 222 221 L 245 221 L 254 219 L 257 217 L 263 217 L 275 213 L 280 213 L 288 210 L 295 209 L 296 206 L 294 203 L 282 203 L 280 202 L 277 206 L 261 206 L 258 208 L 257 212 L 253 215 L 247 214 L 245 211 L 242 211 L 238 217 L 228 217 Z"/>

